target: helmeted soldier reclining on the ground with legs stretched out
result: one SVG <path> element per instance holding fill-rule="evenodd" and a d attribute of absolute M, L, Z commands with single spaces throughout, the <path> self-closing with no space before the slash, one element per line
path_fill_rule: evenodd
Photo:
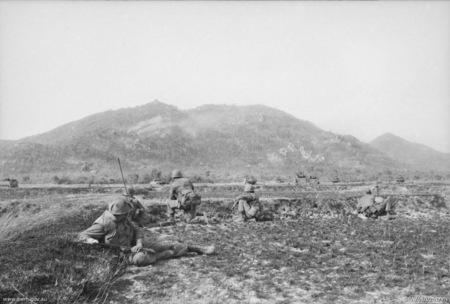
<path fill-rule="evenodd" d="M 145 248 L 151 249 L 154 254 L 144 251 L 144 234 L 129 219 L 132 207 L 125 197 L 116 197 L 92 226 L 79 234 L 79 239 L 88 244 L 106 243 L 112 245 L 131 247 L 127 261 L 136 266 L 147 266 L 161 259 L 179 257 L 187 252 L 197 254 L 212 254 L 214 246 L 200 247 L 187 244 L 174 244 L 164 242 L 151 242 Z"/>

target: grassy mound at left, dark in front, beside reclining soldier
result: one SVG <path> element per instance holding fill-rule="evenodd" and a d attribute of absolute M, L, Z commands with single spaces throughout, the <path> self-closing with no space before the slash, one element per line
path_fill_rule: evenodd
<path fill-rule="evenodd" d="M 99 197 L 96 197 L 99 199 Z M 77 245 L 77 232 L 104 211 L 94 197 L 2 202 L 0 299 L 101 303 L 124 269 L 117 252 Z"/>

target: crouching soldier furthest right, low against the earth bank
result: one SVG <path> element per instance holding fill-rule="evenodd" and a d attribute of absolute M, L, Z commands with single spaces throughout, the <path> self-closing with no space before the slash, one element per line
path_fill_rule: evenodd
<path fill-rule="evenodd" d="M 376 189 L 374 188 L 373 191 Z M 378 192 L 378 191 L 377 191 Z M 361 219 L 378 218 L 379 216 L 389 215 L 390 203 L 382 197 L 373 195 L 372 189 L 368 189 L 366 194 L 358 200 L 356 214 Z M 389 216 L 388 216 L 389 219 Z"/>

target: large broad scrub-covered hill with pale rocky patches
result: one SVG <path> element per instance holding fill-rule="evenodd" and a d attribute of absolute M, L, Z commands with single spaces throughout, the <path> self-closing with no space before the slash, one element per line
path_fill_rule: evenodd
<path fill-rule="evenodd" d="M 325 132 L 310 122 L 262 106 L 204 105 L 191 110 L 154 101 L 97 113 L 0 151 L 4 174 L 172 170 L 231 178 L 253 174 L 367 179 L 404 170 L 370 145 Z M 109 171 L 108 171 L 109 170 Z"/>

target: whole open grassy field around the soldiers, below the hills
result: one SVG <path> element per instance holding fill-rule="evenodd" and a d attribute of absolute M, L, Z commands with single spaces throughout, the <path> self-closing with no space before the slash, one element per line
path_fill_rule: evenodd
<path fill-rule="evenodd" d="M 240 188 L 201 188 L 199 211 L 209 225 L 145 228 L 147 239 L 214 244 L 216 255 L 143 268 L 126 266 L 117 252 L 72 242 L 119 186 L 0 189 L 0 302 L 450 302 L 448 185 L 384 185 L 381 195 L 398 216 L 390 221 L 350 213 L 364 185 L 264 186 L 257 193 L 274 220 L 235 224 L 227 207 Z M 139 198 L 162 219 L 166 195 Z"/>

